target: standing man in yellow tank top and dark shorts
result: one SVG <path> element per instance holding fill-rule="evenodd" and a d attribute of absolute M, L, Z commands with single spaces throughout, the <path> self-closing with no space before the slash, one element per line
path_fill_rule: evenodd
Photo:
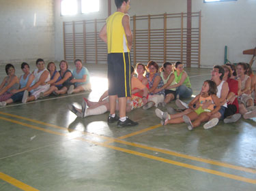
<path fill-rule="evenodd" d="M 109 123 L 117 126 L 135 126 L 126 116 L 126 100 L 131 96 L 130 89 L 130 50 L 132 48 L 132 31 L 130 30 L 130 0 L 115 0 L 117 12 L 106 19 L 99 37 L 108 47 L 108 80 L 109 80 Z M 115 114 L 115 103 L 118 98 L 119 117 Z"/>

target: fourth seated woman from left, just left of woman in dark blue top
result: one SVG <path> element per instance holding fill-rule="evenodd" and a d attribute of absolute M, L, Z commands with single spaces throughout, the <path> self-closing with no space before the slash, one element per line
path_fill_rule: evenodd
<path fill-rule="evenodd" d="M 56 70 L 55 63 L 53 62 L 48 63 L 47 69 L 50 72 L 51 79 L 50 81 L 46 82 L 46 84 L 50 84 L 50 88 L 46 92 L 40 92 L 39 98 L 46 97 L 49 94 L 51 94 L 53 91 L 58 90 L 58 88 L 61 88 L 61 85 L 53 86 L 55 82 L 59 82 L 59 80 L 61 80 L 59 72 Z"/>

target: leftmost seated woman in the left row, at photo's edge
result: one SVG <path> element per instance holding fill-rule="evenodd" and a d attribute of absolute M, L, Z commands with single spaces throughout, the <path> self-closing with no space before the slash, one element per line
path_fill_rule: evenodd
<path fill-rule="evenodd" d="M 5 72 L 7 76 L 3 79 L 0 85 L 0 102 L 8 100 L 18 89 L 18 77 L 15 75 L 14 65 L 5 65 Z"/>

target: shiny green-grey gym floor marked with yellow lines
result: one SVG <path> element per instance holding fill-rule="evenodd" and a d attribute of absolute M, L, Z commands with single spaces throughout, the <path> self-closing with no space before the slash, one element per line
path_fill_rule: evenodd
<path fill-rule="evenodd" d="M 130 112 L 129 128 L 76 118 L 68 103 L 107 89 L 106 66 L 86 67 L 92 92 L 0 107 L 0 190 L 256 190 L 255 118 L 193 131 L 161 126 L 155 107 Z M 185 70 L 198 94 L 211 69 Z"/>

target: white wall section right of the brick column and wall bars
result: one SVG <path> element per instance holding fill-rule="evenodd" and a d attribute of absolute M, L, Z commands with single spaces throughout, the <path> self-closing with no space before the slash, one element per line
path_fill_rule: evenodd
<path fill-rule="evenodd" d="M 224 63 L 228 46 L 231 63 L 249 62 L 252 55 L 242 50 L 256 47 L 256 1 L 238 0 L 221 3 L 193 1 L 193 11 L 202 11 L 201 63 L 211 66 Z M 253 69 L 256 67 L 253 64 Z"/>

